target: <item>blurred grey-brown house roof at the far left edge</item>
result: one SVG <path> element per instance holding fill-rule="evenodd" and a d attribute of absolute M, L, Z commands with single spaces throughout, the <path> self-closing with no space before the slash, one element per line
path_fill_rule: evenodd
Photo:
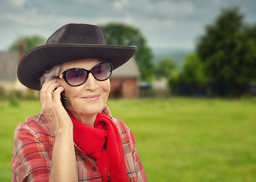
<path fill-rule="evenodd" d="M 0 80 L 15 81 L 20 58 L 18 50 L 0 51 Z"/>

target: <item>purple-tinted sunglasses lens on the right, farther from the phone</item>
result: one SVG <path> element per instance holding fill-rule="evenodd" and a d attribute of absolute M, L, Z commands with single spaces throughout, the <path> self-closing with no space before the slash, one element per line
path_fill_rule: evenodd
<path fill-rule="evenodd" d="M 93 68 L 92 74 L 98 79 L 98 80 L 105 80 L 108 77 L 110 77 L 112 72 L 112 67 L 109 62 L 103 62 L 96 67 Z"/>

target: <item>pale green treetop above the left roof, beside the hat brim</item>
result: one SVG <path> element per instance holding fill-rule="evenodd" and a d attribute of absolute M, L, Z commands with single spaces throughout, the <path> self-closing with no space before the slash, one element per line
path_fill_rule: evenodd
<path fill-rule="evenodd" d="M 18 50 L 19 43 L 21 41 L 23 41 L 23 43 L 24 43 L 24 51 L 25 52 L 28 52 L 29 50 L 33 49 L 34 47 L 37 47 L 39 45 L 44 45 L 46 43 L 45 38 L 41 37 L 39 35 L 23 36 L 23 37 L 19 37 L 18 39 L 14 40 L 9 49 L 10 50 Z"/>

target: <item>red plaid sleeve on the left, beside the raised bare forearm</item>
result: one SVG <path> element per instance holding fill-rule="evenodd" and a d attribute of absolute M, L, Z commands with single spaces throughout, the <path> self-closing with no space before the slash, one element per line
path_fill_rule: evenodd
<path fill-rule="evenodd" d="M 49 181 L 51 155 L 46 150 L 44 142 L 36 137 L 34 131 L 16 128 L 11 160 L 12 182 Z"/>

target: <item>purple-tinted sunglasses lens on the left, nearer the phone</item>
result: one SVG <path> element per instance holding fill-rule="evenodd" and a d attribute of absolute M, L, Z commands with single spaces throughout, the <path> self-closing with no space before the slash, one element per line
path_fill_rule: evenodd
<path fill-rule="evenodd" d="M 82 69 L 72 69 L 66 72 L 66 80 L 70 85 L 80 85 L 87 78 L 87 72 Z"/>

